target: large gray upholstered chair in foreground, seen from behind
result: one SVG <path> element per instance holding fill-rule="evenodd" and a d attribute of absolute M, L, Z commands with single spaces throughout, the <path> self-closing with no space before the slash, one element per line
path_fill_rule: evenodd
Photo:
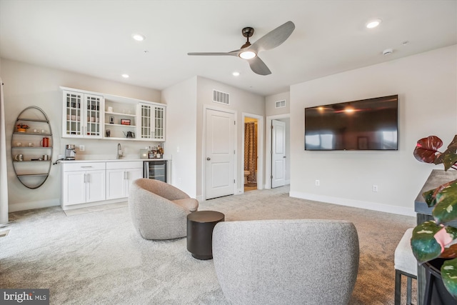
<path fill-rule="evenodd" d="M 348 221 L 225 221 L 213 231 L 214 267 L 231 304 L 348 304 L 358 257 Z"/>

